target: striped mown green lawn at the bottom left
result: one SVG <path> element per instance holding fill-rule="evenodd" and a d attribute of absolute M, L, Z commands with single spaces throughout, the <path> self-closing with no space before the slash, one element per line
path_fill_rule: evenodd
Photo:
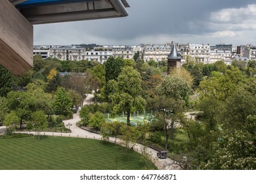
<path fill-rule="evenodd" d="M 118 158 L 117 158 L 118 157 Z M 110 170 L 142 169 L 141 155 L 110 142 L 68 137 L 0 139 L 0 169 Z M 117 167 L 116 167 L 117 159 Z"/>

